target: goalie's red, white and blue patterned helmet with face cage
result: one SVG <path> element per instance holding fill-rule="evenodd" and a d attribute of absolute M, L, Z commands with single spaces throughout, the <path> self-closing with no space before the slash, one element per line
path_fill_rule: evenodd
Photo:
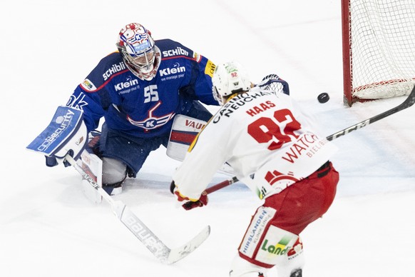
<path fill-rule="evenodd" d="M 140 79 L 153 79 L 160 63 L 160 52 L 148 29 L 138 23 L 128 24 L 121 29 L 116 45 L 130 71 Z"/>

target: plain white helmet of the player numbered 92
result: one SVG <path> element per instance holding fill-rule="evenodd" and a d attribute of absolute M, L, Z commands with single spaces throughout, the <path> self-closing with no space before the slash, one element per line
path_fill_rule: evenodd
<path fill-rule="evenodd" d="M 249 91 L 251 87 L 247 71 L 237 61 L 216 66 L 212 76 L 212 94 L 219 104 L 225 104 L 224 97 Z"/>

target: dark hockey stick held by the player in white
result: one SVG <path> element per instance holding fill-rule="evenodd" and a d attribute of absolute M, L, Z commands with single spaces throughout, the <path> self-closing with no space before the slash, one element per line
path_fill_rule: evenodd
<path fill-rule="evenodd" d="M 378 114 L 377 116 L 373 116 L 370 119 L 366 119 L 362 122 L 359 122 L 358 124 L 354 124 L 354 125 L 346 128 L 346 129 L 343 129 L 342 131 L 338 131 L 337 133 L 334 133 L 330 136 L 327 136 L 326 139 L 327 139 L 327 141 L 332 141 L 334 139 L 338 139 L 340 136 L 344 136 L 346 134 L 349 134 L 352 131 L 362 129 L 363 127 L 366 127 L 369 124 L 372 124 L 376 121 L 384 119 L 385 117 L 390 116 L 391 114 L 396 114 L 398 111 L 402 111 L 404 109 L 407 109 L 410 106 L 414 105 L 414 103 L 415 103 L 415 86 L 412 89 L 411 93 L 409 94 L 408 98 L 406 98 L 405 101 L 402 102 L 401 104 L 399 104 L 398 106 L 396 106 L 392 109 L 389 109 L 388 111 L 384 111 L 383 113 Z M 214 191 L 218 191 L 221 188 L 225 188 L 226 186 L 230 186 L 232 183 L 236 183 L 237 181 L 239 181 L 238 178 L 236 176 L 234 176 L 234 177 L 232 177 L 228 180 L 222 181 L 222 182 L 217 183 L 213 186 L 210 186 L 209 188 L 206 188 L 205 191 L 206 191 L 207 194 L 209 194 L 209 193 L 212 193 Z"/>

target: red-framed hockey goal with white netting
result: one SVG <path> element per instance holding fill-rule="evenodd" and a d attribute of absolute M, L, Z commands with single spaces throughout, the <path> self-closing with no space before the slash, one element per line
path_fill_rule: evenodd
<path fill-rule="evenodd" d="M 415 0 L 342 0 L 344 104 L 415 84 Z"/>

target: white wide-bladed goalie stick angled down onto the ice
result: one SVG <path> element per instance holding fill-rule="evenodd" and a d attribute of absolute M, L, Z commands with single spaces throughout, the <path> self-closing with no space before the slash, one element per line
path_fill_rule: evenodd
<path fill-rule="evenodd" d="M 179 261 L 182 258 L 185 258 L 185 256 L 188 256 L 192 251 L 194 251 L 196 248 L 200 246 L 200 244 L 203 243 L 203 241 L 206 240 L 206 238 L 210 234 L 210 226 L 206 226 L 203 228 L 200 233 L 198 233 L 197 236 L 192 238 L 188 243 L 185 243 L 183 246 L 180 246 L 178 248 L 169 248 L 168 246 L 163 243 L 163 241 L 160 240 L 155 234 L 150 231 L 150 229 L 145 226 L 143 221 L 140 221 L 140 218 L 135 216 L 135 214 L 125 206 L 125 204 L 122 201 L 115 201 L 111 196 L 106 193 L 106 191 L 101 188 L 101 186 L 96 183 L 96 181 L 91 178 L 91 176 L 88 175 L 85 171 L 83 171 L 83 168 L 81 166 L 78 166 L 78 163 L 70 156 L 65 156 L 66 161 L 71 163 L 71 166 L 73 166 L 78 173 L 85 178 L 88 183 L 95 188 L 98 193 L 101 194 L 101 196 L 108 201 L 108 203 L 111 204 L 111 207 L 113 209 L 113 213 L 117 216 L 117 218 L 124 224 L 125 227 L 130 230 L 131 233 L 134 234 L 140 240 L 145 247 L 150 250 L 153 255 L 158 258 L 158 260 L 162 263 L 175 263 Z"/>

